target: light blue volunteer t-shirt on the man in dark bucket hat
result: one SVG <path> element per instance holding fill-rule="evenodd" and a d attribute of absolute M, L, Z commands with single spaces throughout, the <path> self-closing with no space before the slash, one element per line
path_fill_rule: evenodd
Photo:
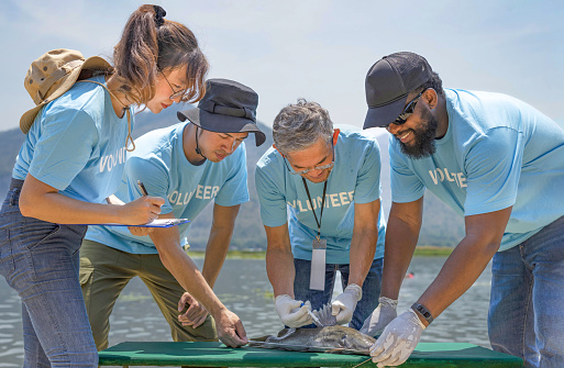
<path fill-rule="evenodd" d="M 119 199 L 131 202 L 140 198 L 141 180 L 150 196 L 165 199 L 162 214 L 173 212 L 177 219 L 189 220 L 212 200 L 223 207 L 248 201 L 245 144 L 219 163 L 206 160 L 195 166 L 184 153 L 183 133 L 188 124 L 156 130 L 135 140 L 137 148 L 128 154 L 123 182 L 115 193 Z M 181 239 L 189 225 L 178 226 Z M 132 254 L 158 253 L 151 237 L 132 235 L 125 226 L 88 226 L 86 238 Z"/>

